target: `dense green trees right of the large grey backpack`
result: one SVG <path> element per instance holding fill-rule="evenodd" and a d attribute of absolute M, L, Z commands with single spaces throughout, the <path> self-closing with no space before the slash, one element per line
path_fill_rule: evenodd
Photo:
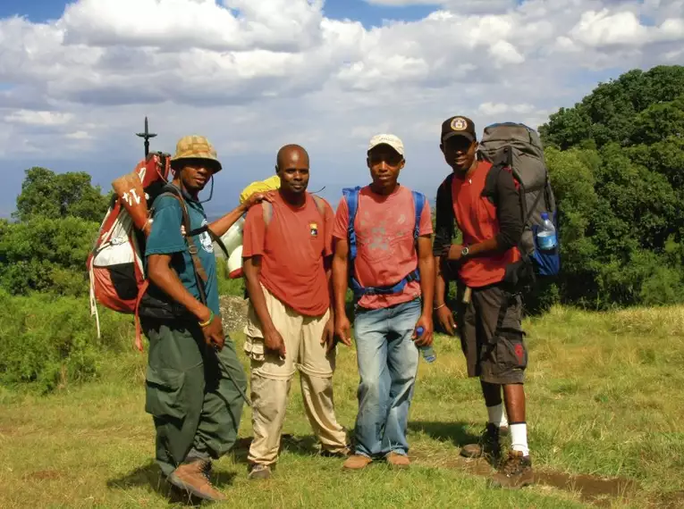
<path fill-rule="evenodd" d="M 562 213 L 562 301 L 684 301 L 684 67 L 629 71 L 540 132 Z"/>

